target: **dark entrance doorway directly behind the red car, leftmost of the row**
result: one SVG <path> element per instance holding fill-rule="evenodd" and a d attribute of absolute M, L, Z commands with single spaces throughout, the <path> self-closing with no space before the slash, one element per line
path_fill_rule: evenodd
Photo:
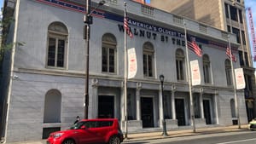
<path fill-rule="evenodd" d="M 98 118 L 114 118 L 114 96 L 99 95 Z"/>

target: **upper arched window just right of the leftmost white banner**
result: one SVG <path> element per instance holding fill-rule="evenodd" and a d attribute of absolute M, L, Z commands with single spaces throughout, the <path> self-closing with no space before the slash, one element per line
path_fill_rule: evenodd
<path fill-rule="evenodd" d="M 154 46 L 149 42 L 143 44 L 143 74 L 144 77 L 154 76 Z"/>

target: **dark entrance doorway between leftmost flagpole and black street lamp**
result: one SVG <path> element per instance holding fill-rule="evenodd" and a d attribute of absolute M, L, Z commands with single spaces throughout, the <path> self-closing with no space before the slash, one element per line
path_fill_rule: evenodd
<path fill-rule="evenodd" d="M 153 98 L 141 97 L 143 128 L 154 127 Z"/>

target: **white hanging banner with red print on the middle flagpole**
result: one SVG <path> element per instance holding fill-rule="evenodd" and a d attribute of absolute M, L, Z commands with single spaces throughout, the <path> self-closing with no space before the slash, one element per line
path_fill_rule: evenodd
<path fill-rule="evenodd" d="M 192 85 L 200 85 L 201 74 L 200 74 L 200 69 L 198 65 L 198 60 L 190 61 L 190 70 L 191 70 Z"/>

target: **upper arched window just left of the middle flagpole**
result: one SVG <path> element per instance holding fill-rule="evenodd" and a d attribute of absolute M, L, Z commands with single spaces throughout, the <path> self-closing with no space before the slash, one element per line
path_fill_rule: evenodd
<path fill-rule="evenodd" d="M 177 80 L 184 80 L 184 60 L 185 55 L 182 49 L 176 50 L 176 72 L 177 72 Z"/>

